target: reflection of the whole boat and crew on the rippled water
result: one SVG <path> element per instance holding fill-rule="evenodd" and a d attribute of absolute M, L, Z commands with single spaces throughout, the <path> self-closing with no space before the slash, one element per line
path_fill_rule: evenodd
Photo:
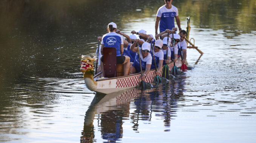
<path fill-rule="evenodd" d="M 131 120 L 133 131 L 139 132 L 140 121 L 160 117 L 163 120 L 163 131 L 170 131 L 170 122 L 176 117 L 177 102 L 182 96 L 185 79 L 159 85 L 151 90 L 142 92 L 137 88 L 125 92 L 96 94 L 89 109 L 85 113 L 85 122 L 81 142 L 96 141 L 93 122 L 97 122 L 101 138 L 107 141 L 120 141 L 123 138 L 123 122 Z"/>

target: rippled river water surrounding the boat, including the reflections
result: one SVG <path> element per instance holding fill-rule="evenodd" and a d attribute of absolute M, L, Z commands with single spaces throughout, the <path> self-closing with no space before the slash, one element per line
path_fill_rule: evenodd
<path fill-rule="evenodd" d="M 0 1 L 1 142 L 246 142 L 256 139 L 256 1 L 174 0 L 204 55 L 156 88 L 95 95 L 79 61 L 97 36 L 154 34 L 163 1 Z"/>

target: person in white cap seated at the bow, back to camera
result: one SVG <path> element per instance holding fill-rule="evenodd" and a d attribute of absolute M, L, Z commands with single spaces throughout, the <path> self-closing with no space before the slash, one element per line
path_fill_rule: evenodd
<path fill-rule="evenodd" d="M 117 64 L 124 64 L 123 75 L 128 74 L 130 66 L 130 57 L 121 56 L 123 54 L 123 36 L 116 33 L 117 25 L 116 23 L 108 24 L 108 33 L 102 36 L 101 47 L 114 47 L 116 48 L 116 62 Z M 103 48 L 101 48 L 101 54 L 103 54 Z M 103 69 L 103 58 L 101 57 L 100 66 Z M 103 71 L 103 70 L 102 70 Z"/>

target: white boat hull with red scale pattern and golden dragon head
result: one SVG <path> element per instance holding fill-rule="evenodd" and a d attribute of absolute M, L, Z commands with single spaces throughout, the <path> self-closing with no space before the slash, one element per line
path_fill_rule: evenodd
<path fill-rule="evenodd" d="M 89 57 L 89 56 L 83 56 L 81 60 L 81 71 L 84 74 L 84 80 L 86 87 L 95 92 L 99 93 L 111 93 L 111 92 L 117 92 L 120 90 L 129 89 L 132 87 L 135 87 L 140 82 L 140 73 L 132 74 L 132 75 L 126 75 L 126 76 L 120 76 L 120 77 L 113 77 L 113 78 L 103 78 L 99 79 L 100 73 L 93 76 L 94 70 L 93 70 L 93 61 L 95 59 Z M 176 61 L 176 66 L 180 67 L 182 65 L 181 57 L 178 58 Z M 171 62 L 168 66 L 169 69 L 173 68 L 174 63 Z M 160 72 L 162 73 L 162 71 Z M 151 83 L 154 80 L 154 77 L 156 76 L 155 70 L 152 69 L 147 75 L 147 78 L 145 79 L 146 82 Z M 161 76 L 161 75 L 160 75 Z"/>

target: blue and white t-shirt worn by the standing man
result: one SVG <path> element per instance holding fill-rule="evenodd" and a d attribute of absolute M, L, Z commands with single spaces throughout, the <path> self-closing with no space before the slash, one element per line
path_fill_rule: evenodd
<path fill-rule="evenodd" d="M 160 32 L 166 29 L 172 30 L 174 25 L 174 17 L 178 16 L 178 9 L 171 5 L 171 9 L 167 9 L 165 5 L 161 6 L 157 11 L 157 17 L 160 17 L 159 30 Z"/>

